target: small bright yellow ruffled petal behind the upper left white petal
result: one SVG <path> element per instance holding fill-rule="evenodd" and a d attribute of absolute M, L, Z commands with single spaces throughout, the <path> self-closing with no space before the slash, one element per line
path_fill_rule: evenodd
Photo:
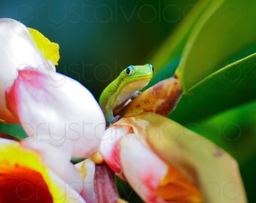
<path fill-rule="evenodd" d="M 58 65 L 59 61 L 59 44 L 51 42 L 48 38 L 44 37 L 41 32 L 36 29 L 28 28 L 32 38 L 35 41 L 38 50 L 44 54 L 44 57 L 51 60 L 54 65 Z"/>

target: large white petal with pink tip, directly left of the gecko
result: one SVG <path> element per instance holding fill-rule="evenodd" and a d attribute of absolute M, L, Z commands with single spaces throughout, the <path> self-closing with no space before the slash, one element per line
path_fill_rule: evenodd
<path fill-rule="evenodd" d="M 72 156 L 84 158 L 98 150 L 105 119 L 78 81 L 52 71 L 20 70 L 7 95 L 29 136 L 69 146 Z"/>

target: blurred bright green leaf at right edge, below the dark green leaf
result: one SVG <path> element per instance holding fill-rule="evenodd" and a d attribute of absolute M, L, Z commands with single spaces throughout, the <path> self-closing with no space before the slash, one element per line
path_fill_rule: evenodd
<path fill-rule="evenodd" d="M 256 101 L 224 111 L 200 123 L 186 127 L 227 150 L 239 165 L 256 156 Z"/>

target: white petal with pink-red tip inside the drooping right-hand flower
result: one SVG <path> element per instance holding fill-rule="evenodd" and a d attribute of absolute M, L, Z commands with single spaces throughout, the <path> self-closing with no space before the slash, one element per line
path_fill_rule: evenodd
<path fill-rule="evenodd" d="M 154 193 L 168 171 L 167 165 L 130 134 L 120 141 L 123 174 L 133 189 L 146 202 L 164 202 Z"/>

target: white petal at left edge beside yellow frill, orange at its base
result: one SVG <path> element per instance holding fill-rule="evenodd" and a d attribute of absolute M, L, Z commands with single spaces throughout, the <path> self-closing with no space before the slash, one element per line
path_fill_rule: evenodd
<path fill-rule="evenodd" d="M 5 88 L 17 77 L 17 68 L 49 68 L 47 60 L 35 46 L 26 26 L 16 20 L 0 19 L 0 118 L 12 122 L 5 106 Z"/>

